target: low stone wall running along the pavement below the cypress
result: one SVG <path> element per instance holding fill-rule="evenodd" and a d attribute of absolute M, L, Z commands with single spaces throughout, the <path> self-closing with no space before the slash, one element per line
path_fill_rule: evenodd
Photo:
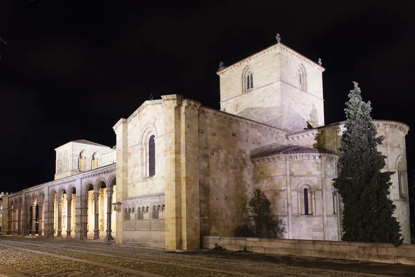
<path fill-rule="evenodd" d="M 246 250 L 278 255 L 310 256 L 368 262 L 415 265 L 415 245 L 395 247 L 389 243 L 335 242 L 324 240 L 277 240 L 269 238 L 203 237 L 203 248 L 217 243 L 229 250 Z"/>

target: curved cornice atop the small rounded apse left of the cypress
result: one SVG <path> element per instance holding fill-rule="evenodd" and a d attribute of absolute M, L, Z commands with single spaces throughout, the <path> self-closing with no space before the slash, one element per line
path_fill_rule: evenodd
<path fill-rule="evenodd" d="M 261 163 L 276 163 L 279 161 L 301 161 L 301 160 L 325 160 L 325 161 L 338 161 L 339 156 L 337 154 L 328 153 L 304 153 L 304 154 L 275 154 L 273 156 L 258 157 L 252 159 L 252 163 L 255 166 Z"/>

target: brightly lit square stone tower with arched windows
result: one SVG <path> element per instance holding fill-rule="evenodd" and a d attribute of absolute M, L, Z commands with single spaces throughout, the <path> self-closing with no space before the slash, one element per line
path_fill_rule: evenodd
<path fill-rule="evenodd" d="M 221 67 L 221 111 L 297 132 L 324 125 L 324 68 L 278 43 Z"/>

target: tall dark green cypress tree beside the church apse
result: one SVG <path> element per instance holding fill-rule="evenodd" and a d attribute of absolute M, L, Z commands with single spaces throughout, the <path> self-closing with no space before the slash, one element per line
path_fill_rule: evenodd
<path fill-rule="evenodd" d="M 357 82 L 344 109 L 347 121 L 341 138 L 342 155 L 334 188 L 344 203 L 342 240 L 351 242 L 402 243 L 400 226 L 393 217 L 396 206 L 388 198 L 390 176 L 382 172 L 385 156 L 376 148 L 383 138 L 376 137 L 371 122 L 371 105 L 363 102 Z"/>

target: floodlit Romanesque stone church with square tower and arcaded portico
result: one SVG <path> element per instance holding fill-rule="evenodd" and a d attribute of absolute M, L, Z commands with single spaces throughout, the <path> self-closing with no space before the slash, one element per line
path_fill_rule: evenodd
<path fill-rule="evenodd" d="M 55 149 L 54 181 L 3 196 L 3 234 L 199 249 L 205 235 L 233 236 L 261 188 L 285 238 L 341 240 L 332 179 L 344 122 L 324 123 L 323 71 L 277 43 L 221 63 L 220 111 L 175 94 L 143 102 L 113 126 L 116 146 L 68 142 Z M 374 124 L 409 243 L 409 127 Z"/>

